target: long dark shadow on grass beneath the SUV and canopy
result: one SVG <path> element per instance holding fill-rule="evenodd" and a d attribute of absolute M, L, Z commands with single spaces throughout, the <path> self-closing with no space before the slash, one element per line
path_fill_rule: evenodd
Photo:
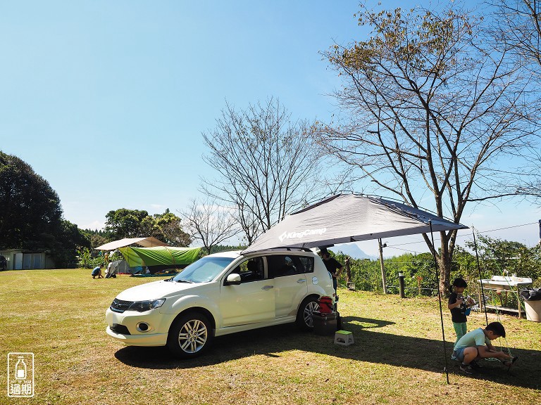
<path fill-rule="evenodd" d="M 334 335 L 302 333 L 293 325 L 280 325 L 220 336 L 214 339 L 208 352 L 192 360 L 175 359 L 165 347 L 124 347 L 115 356 L 124 364 L 137 368 L 197 368 L 254 355 L 280 357 L 291 350 L 303 350 L 343 359 L 444 372 L 444 347 L 441 340 L 392 335 L 375 330 L 390 324 L 392 322 L 376 319 L 344 317 L 343 328 L 351 330 L 355 339 L 354 345 L 347 347 L 335 345 Z M 452 374 L 461 374 L 461 371 L 459 363 L 450 359 L 451 342 L 446 343 L 446 352 L 449 357 L 449 380 L 452 383 Z M 469 377 L 539 390 L 541 352 L 512 349 L 512 354 L 519 359 L 510 370 L 499 361 L 480 361 L 483 370 Z"/>

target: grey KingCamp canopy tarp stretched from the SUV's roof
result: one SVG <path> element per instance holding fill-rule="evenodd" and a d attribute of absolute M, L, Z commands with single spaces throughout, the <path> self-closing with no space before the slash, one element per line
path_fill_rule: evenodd
<path fill-rule="evenodd" d="M 288 215 L 244 252 L 314 248 L 452 229 L 468 227 L 391 200 L 339 194 Z"/>

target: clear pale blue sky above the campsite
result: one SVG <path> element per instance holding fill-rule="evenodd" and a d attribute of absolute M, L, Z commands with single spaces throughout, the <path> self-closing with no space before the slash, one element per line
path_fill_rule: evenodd
<path fill-rule="evenodd" d="M 321 52 L 366 34 L 358 9 L 347 0 L 3 2 L 0 149 L 49 181 L 80 228 L 101 228 L 121 207 L 183 210 L 199 177 L 213 175 L 201 132 L 225 101 L 245 108 L 274 96 L 309 120 L 336 112 L 327 95 L 340 82 Z M 530 224 L 489 235 L 533 245 L 540 218 L 506 204 L 463 223 Z"/>

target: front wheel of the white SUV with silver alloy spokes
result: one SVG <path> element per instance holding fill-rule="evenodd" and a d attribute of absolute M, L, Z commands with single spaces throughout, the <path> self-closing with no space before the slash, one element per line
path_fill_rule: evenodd
<path fill-rule="evenodd" d="M 169 329 L 167 347 L 180 359 L 192 359 L 206 352 L 212 338 L 209 319 L 198 312 L 189 312 L 173 322 Z"/>

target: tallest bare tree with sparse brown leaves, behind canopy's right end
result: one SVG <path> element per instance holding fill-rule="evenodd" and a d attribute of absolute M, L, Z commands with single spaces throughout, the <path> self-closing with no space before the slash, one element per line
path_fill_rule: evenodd
<path fill-rule="evenodd" d="M 511 181 L 539 145 L 538 111 L 527 108 L 532 89 L 521 65 L 487 41 L 483 19 L 453 8 L 363 7 L 357 16 L 372 36 L 325 53 L 344 78 L 335 96 L 347 120 L 321 125 L 321 146 L 375 193 L 413 207 L 431 201 L 456 223 L 467 203 L 519 193 Z M 444 290 L 456 231 L 440 233 L 439 248 L 423 237 Z"/>

